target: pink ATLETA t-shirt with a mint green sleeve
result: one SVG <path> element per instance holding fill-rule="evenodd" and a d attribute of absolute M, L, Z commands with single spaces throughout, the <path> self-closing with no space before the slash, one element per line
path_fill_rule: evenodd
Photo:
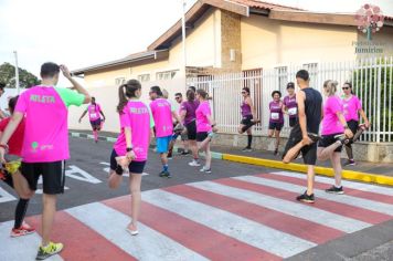
<path fill-rule="evenodd" d="M 15 112 L 25 117 L 22 147 L 24 163 L 53 163 L 70 158 L 67 107 L 85 100 L 68 88 L 34 86 L 23 92 Z"/>

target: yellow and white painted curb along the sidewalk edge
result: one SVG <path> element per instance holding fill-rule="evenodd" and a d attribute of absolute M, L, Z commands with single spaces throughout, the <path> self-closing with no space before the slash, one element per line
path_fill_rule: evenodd
<path fill-rule="evenodd" d="M 93 135 L 84 134 L 84 133 L 74 133 L 74 132 L 70 133 L 70 136 L 79 137 L 79 138 L 89 138 L 89 139 L 94 138 Z M 115 143 L 116 138 L 98 136 L 98 140 Z M 179 148 L 177 148 L 177 147 L 174 147 L 173 149 L 179 152 Z M 180 152 L 182 152 L 182 150 L 180 150 Z M 203 156 L 203 153 L 201 153 L 200 155 Z M 302 174 L 307 173 L 307 166 L 302 165 L 302 164 L 294 164 L 294 163 L 284 164 L 278 160 L 254 158 L 254 157 L 246 157 L 246 156 L 232 155 L 232 154 L 222 154 L 222 153 L 214 153 L 214 152 L 212 152 L 212 158 L 227 160 L 227 161 L 234 161 L 234 163 L 263 166 L 263 167 L 268 167 L 268 168 L 277 168 L 277 169 L 284 169 L 284 170 L 298 171 L 298 173 L 302 173 Z M 316 166 L 315 171 L 316 171 L 316 174 L 322 175 L 322 176 L 328 176 L 328 177 L 334 176 L 332 168 Z M 363 182 L 393 186 L 393 177 L 379 175 L 379 174 L 368 174 L 368 173 L 343 169 L 342 178 L 350 179 L 350 180 L 357 180 L 357 181 L 363 181 Z"/>

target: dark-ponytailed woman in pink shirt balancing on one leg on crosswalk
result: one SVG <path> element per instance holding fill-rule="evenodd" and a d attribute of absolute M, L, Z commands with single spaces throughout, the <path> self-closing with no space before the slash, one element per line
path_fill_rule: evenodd
<path fill-rule="evenodd" d="M 129 80 L 119 86 L 117 112 L 120 115 L 120 134 L 110 155 L 109 187 L 117 188 L 121 182 L 123 170 L 129 171 L 131 194 L 131 222 L 127 231 L 138 234 L 140 212 L 140 184 L 148 159 L 150 137 L 155 122 L 149 106 L 139 101 L 141 85 L 137 80 Z"/>

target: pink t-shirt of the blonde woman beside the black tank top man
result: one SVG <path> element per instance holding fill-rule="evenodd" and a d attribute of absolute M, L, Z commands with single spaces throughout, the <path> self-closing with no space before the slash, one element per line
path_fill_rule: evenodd
<path fill-rule="evenodd" d="M 323 105 L 322 135 L 341 134 L 344 132 L 337 112 L 342 112 L 341 100 L 336 95 L 328 97 Z"/>

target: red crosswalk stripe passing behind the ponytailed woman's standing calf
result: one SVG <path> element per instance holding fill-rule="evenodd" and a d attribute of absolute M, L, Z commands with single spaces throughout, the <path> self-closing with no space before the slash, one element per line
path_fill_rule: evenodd
<path fill-rule="evenodd" d="M 144 200 L 145 200 L 144 192 Z M 118 211 L 129 212 L 129 198 L 110 199 L 105 203 Z M 279 257 L 226 237 L 210 227 L 200 225 L 178 213 L 142 201 L 140 221 L 182 246 L 210 260 L 282 260 Z M 212 217 L 214 219 L 215 217 Z M 141 236 L 141 234 L 140 234 Z M 139 236 L 138 236 L 139 237 Z M 155 244 L 155 241 L 151 241 Z M 166 259 L 166 258 L 163 258 Z M 167 259 L 168 260 L 168 259 Z M 169 260 L 171 257 L 169 257 Z M 182 260 L 194 260 L 183 258 Z"/>

